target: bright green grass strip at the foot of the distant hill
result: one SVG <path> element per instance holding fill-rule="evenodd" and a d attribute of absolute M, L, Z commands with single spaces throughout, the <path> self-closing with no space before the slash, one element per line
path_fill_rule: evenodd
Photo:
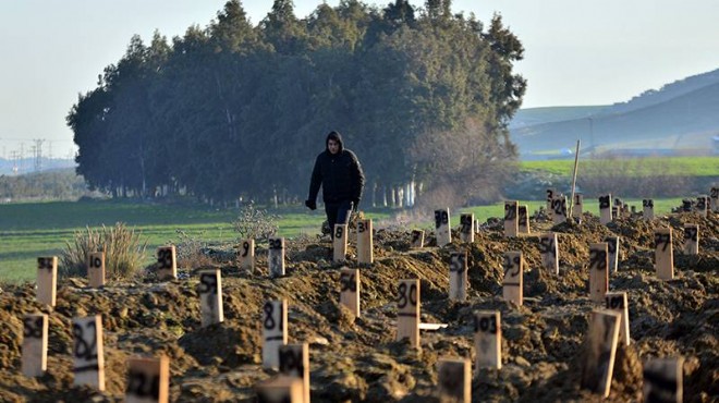
<path fill-rule="evenodd" d="M 544 171 L 558 175 L 572 175 L 574 158 L 522 161 L 522 171 Z M 624 175 L 647 176 L 658 173 L 686 176 L 719 176 L 719 157 L 647 157 L 617 160 L 582 160 L 580 175 L 586 172 L 616 170 Z"/>

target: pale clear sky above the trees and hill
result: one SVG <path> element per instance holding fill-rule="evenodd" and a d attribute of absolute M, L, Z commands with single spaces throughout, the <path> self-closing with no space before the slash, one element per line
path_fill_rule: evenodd
<path fill-rule="evenodd" d="M 339 1 L 294 0 L 295 15 Z M 224 3 L 0 0 L 0 157 L 21 149 L 31 157 L 38 144 L 46 157 L 72 156 L 65 117 L 124 54 L 132 35 L 182 36 L 191 25 L 208 25 Z M 242 4 L 256 25 L 272 0 Z M 515 72 L 528 81 L 523 108 L 622 102 L 719 69 L 717 0 L 453 0 L 452 12 L 474 13 L 486 25 L 500 13 L 517 35 L 525 58 Z"/>

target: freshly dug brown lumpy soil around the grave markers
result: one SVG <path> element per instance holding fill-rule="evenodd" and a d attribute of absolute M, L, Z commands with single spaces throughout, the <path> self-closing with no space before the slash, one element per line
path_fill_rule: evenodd
<path fill-rule="evenodd" d="M 700 251 L 681 252 L 682 227 L 698 223 Z M 672 281 L 654 273 L 654 229 L 674 229 Z M 533 221 L 533 232 L 548 231 Z M 258 272 L 237 269 L 234 259 L 214 258 L 222 269 L 224 322 L 202 328 L 197 276 L 183 280 L 112 282 L 101 291 L 84 279 L 60 281 L 54 309 L 35 301 L 34 284 L 5 284 L 0 293 L 0 401 L 119 402 L 125 388 L 124 361 L 133 355 L 166 354 L 171 359 L 172 401 L 254 401 L 254 386 L 276 375 L 261 368 L 260 316 L 268 300 L 287 298 L 289 340 L 309 344 L 314 402 L 439 401 L 434 395 L 437 361 L 446 356 L 474 359 L 472 313 L 499 309 L 502 319 L 501 370 L 483 369 L 473 380 L 476 401 L 586 402 L 598 395 L 580 389 L 580 355 L 588 313 L 598 307 L 587 297 L 588 244 L 618 234 L 619 271 L 612 291 L 630 300 L 632 344 L 617 354 L 610 402 L 642 401 L 642 363 L 683 355 L 684 400 L 719 396 L 719 218 L 681 213 L 653 222 L 619 220 L 600 225 L 585 215 L 582 225 L 561 224 L 560 276 L 540 269 L 538 239 L 504 239 L 498 221 L 483 225 L 472 245 L 410 249 L 410 231 L 377 230 L 375 259 L 362 267 L 362 317 L 339 305 L 338 265 L 329 262 L 328 242 L 289 241 L 287 276 L 267 279 L 267 254 L 258 251 Z M 428 234 L 430 245 L 434 235 Z M 450 253 L 468 249 L 471 290 L 464 303 L 448 300 Z M 522 251 L 525 304 L 501 298 L 505 251 Z M 350 246 L 351 261 L 354 248 Z M 350 267 L 360 267 L 349 264 Z M 449 327 L 422 332 L 422 349 L 394 340 L 399 279 L 422 281 L 422 321 Z M 24 314 L 50 317 L 48 371 L 31 379 L 20 374 Z M 71 320 L 101 314 L 105 330 L 107 390 L 72 386 Z"/>

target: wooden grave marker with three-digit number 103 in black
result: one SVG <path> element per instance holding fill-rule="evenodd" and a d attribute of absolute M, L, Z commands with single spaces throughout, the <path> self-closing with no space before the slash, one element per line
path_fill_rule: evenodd
<path fill-rule="evenodd" d="M 502 368 L 502 328 L 499 310 L 474 314 L 475 367 Z"/>

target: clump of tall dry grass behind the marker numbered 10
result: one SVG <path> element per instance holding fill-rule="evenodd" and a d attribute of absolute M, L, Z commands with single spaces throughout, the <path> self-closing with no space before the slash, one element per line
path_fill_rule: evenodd
<path fill-rule="evenodd" d="M 89 254 L 105 252 L 105 276 L 125 279 L 137 272 L 145 259 L 147 240 L 142 233 L 118 222 L 114 227 L 76 231 L 71 242 L 65 241 L 65 249 L 60 257 L 60 274 L 64 277 L 87 276 Z"/>

